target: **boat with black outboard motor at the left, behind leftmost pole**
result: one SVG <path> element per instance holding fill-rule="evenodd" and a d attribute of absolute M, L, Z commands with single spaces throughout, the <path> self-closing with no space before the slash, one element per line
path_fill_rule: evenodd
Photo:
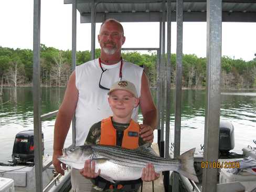
<path fill-rule="evenodd" d="M 44 134 L 42 133 L 42 153 L 44 154 Z M 58 174 L 52 165 L 52 156 L 42 156 L 42 187 L 44 191 L 65 191 L 71 189 L 70 169 L 65 175 Z M 36 171 L 34 162 L 34 131 L 16 134 L 12 160 L 0 163 L 0 191 L 36 191 Z"/>

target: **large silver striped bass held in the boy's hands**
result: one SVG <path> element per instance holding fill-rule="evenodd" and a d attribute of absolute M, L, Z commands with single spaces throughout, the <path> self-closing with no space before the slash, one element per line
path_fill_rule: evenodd
<path fill-rule="evenodd" d="M 114 180 L 135 180 L 141 178 L 142 169 L 148 163 L 154 165 L 155 172 L 173 170 L 198 182 L 194 169 L 195 148 L 183 153 L 177 159 L 159 157 L 153 149 L 145 144 L 136 150 L 119 146 L 82 145 L 62 150 L 59 161 L 72 168 L 83 169 L 87 159 L 95 161 L 95 172 L 101 169 L 100 176 L 112 183 Z"/>

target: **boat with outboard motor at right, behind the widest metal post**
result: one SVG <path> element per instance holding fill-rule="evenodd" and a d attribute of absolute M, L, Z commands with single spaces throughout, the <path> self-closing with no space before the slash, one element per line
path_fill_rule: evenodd
<path fill-rule="evenodd" d="M 253 140 L 256 145 L 256 141 Z M 245 146 L 241 151 L 232 151 L 234 148 L 234 127 L 232 122 L 220 120 L 219 127 L 219 158 L 217 162 L 204 161 L 204 146 L 201 150 L 195 152 L 194 167 L 196 170 L 199 183 L 195 183 L 188 178 L 179 175 L 180 181 L 183 183 L 183 190 L 192 192 L 202 191 L 202 174 L 205 168 L 218 169 L 217 192 L 255 192 L 256 191 L 256 168 L 251 168 L 251 173 L 240 170 L 239 173 L 232 169 L 240 168 L 240 163 L 244 158 L 252 158 L 256 160 L 256 146 Z M 170 153 L 173 156 L 173 153 Z M 172 177 L 170 178 L 172 184 Z M 183 191 L 182 190 L 182 191 Z"/>

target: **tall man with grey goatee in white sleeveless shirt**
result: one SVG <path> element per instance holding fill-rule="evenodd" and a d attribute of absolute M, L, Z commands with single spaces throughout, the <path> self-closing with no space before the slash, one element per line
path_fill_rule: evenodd
<path fill-rule="evenodd" d="M 73 71 L 63 102 L 59 108 L 54 131 L 54 154 L 52 162 L 57 172 L 64 174 L 66 165 L 59 162 L 61 149 L 65 142 L 70 122 L 76 112 L 76 146 L 83 145 L 92 124 L 112 115 L 108 104 L 108 91 L 111 85 L 125 79 L 135 84 L 143 124 L 140 125 L 140 136 L 143 141 L 152 142 L 153 131 L 157 124 L 157 112 L 152 100 L 148 79 L 143 69 L 122 60 L 121 47 L 125 42 L 122 25 L 108 19 L 102 25 L 98 41 L 101 47 L 99 59 L 77 66 Z M 133 111 L 132 119 L 137 121 L 138 107 Z M 71 172 L 72 188 L 76 191 L 90 191 L 90 180 L 80 175 L 79 170 Z M 82 184 L 83 183 L 83 184 Z"/>

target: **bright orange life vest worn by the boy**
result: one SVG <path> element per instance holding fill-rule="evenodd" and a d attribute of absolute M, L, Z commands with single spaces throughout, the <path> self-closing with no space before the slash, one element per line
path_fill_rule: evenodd
<path fill-rule="evenodd" d="M 138 132 L 140 126 L 131 120 L 130 125 L 124 130 L 122 147 L 135 149 L 138 147 Z M 101 145 L 116 145 L 116 129 L 114 128 L 111 116 L 101 121 Z"/>

